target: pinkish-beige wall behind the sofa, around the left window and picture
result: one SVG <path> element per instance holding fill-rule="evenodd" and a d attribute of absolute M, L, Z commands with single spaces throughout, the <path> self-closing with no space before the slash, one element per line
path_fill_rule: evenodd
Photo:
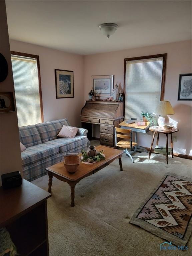
<path fill-rule="evenodd" d="M 80 126 L 83 106 L 83 56 L 10 40 L 11 51 L 39 55 L 44 122 L 67 117 L 73 126 Z M 56 99 L 55 69 L 74 74 L 74 98 Z"/>

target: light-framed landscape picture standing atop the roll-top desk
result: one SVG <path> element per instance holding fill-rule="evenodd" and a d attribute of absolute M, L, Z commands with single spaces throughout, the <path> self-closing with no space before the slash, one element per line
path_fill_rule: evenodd
<path fill-rule="evenodd" d="M 114 76 L 91 76 L 91 88 L 94 89 L 96 97 L 110 97 L 113 90 Z"/>

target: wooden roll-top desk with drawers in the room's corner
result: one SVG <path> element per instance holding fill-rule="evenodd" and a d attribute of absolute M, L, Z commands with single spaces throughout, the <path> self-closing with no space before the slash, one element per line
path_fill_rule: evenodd
<path fill-rule="evenodd" d="M 81 110 L 82 128 L 88 130 L 92 138 L 93 124 L 100 126 L 100 144 L 115 147 L 114 127 L 119 127 L 124 119 L 124 102 L 86 101 Z"/>

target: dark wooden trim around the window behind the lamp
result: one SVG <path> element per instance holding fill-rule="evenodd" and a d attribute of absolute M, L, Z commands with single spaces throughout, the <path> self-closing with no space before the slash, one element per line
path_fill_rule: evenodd
<path fill-rule="evenodd" d="M 148 56 L 141 56 L 141 57 L 133 57 L 133 58 L 125 58 L 124 59 L 124 94 L 125 94 L 125 80 L 126 80 L 126 62 L 127 61 L 131 61 L 131 60 L 144 60 L 144 59 L 153 59 L 153 58 L 161 58 L 161 57 L 163 57 L 163 69 L 162 69 L 162 79 L 161 79 L 161 96 L 160 96 L 160 100 L 164 100 L 167 53 L 156 54 L 156 55 L 148 55 Z"/>

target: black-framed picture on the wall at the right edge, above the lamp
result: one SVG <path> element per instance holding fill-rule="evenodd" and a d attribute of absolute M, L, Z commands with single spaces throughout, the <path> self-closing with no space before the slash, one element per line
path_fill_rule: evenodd
<path fill-rule="evenodd" d="M 191 96 L 191 74 L 180 74 L 178 100 L 191 100 Z"/>

